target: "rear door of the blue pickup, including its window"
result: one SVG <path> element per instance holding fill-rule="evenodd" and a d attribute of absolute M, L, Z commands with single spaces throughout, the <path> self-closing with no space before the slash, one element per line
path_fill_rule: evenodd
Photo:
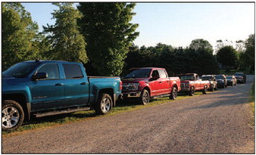
<path fill-rule="evenodd" d="M 79 64 L 62 64 L 66 106 L 88 104 L 89 82 Z"/>

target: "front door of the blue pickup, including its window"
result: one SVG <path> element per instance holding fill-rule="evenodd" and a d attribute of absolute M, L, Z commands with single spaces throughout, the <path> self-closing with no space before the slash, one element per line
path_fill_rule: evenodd
<path fill-rule="evenodd" d="M 38 79 L 29 83 L 31 92 L 31 110 L 42 110 L 59 107 L 64 101 L 64 87 L 60 84 L 58 64 L 44 64 L 37 73 L 47 73 L 45 79 Z"/>

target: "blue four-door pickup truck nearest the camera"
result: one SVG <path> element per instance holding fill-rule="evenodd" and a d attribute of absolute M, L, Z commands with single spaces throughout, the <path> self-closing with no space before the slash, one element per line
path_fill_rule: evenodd
<path fill-rule="evenodd" d="M 30 60 L 2 73 L 2 130 L 11 131 L 32 116 L 94 109 L 109 113 L 121 97 L 120 77 L 87 76 L 82 64 Z"/>

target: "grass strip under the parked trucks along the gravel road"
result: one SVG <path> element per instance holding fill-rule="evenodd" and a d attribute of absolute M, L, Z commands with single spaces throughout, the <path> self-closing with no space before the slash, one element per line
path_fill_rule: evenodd
<path fill-rule="evenodd" d="M 211 91 L 209 91 L 209 93 L 210 92 Z M 202 93 L 200 91 L 195 92 L 195 96 L 198 96 L 201 94 Z M 183 100 L 185 98 L 191 98 L 191 96 L 179 95 L 175 101 Z M 106 115 L 96 115 L 94 110 L 89 110 L 89 111 L 80 111 L 76 113 L 67 113 L 67 114 L 61 114 L 61 115 L 55 115 L 55 116 L 45 116 L 45 117 L 33 119 L 30 122 L 25 122 L 23 126 L 20 126 L 20 128 L 18 128 L 14 132 L 2 132 L 2 135 L 24 132 L 32 129 L 43 129 L 51 126 L 59 126 L 61 124 L 65 124 L 68 122 L 76 122 L 76 121 L 81 121 L 85 119 L 93 119 L 101 116 L 111 116 L 111 115 L 116 115 L 118 113 L 124 113 L 127 111 L 139 110 L 145 107 L 152 107 L 152 106 L 156 106 L 158 104 L 164 104 L 167 102 L 173 102 L 173 100 L 170 100 L 168 97 L 157 98 L 152 100 L 150 103 L 146 105 L 138 105 L 134 101 L 126 101 L 126 102 L 117 104 L 117 107 L 113 107 L 111 110 L 111 113 L 108 113 Z"/>

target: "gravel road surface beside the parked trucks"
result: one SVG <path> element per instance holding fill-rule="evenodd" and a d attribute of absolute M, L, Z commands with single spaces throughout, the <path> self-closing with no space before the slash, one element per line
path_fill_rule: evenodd
<path fill-rule="evenodd" d="M 239 84 L 155 107 L 2 137 L 2 153 L 254 153 Z"/>

